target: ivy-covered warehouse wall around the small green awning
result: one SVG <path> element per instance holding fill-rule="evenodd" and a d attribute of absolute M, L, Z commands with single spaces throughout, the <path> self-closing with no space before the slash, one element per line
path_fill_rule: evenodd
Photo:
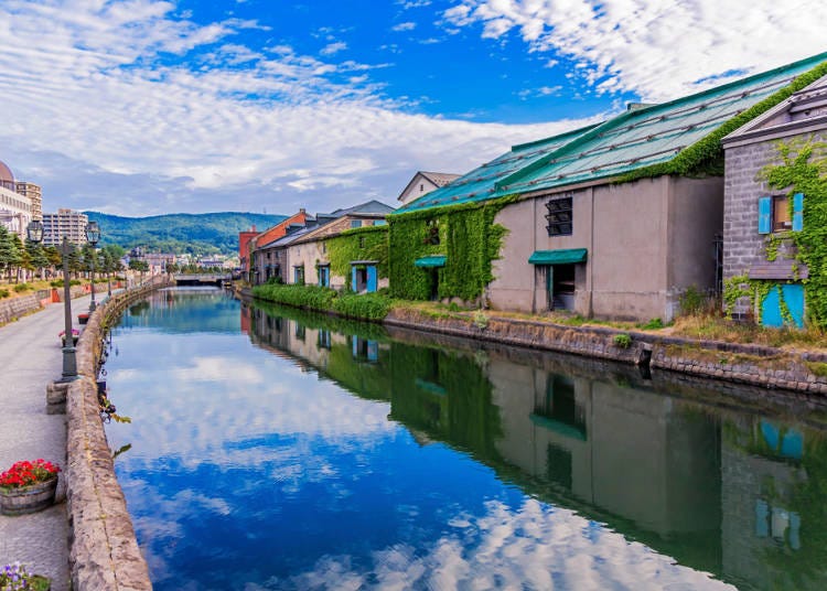
<path fill-rule="evenodd" d="M 492 260 L 500 258 L 507 232 L 494 218 L 514 201 L 503 197 L 388 216 L 391 294 L 427 300 L 436 277 L 440 299 L 476 300 L 494 279 Z M 430 255 L 444 255 L 445 266 L 434 271 L 415 265 Z"/>

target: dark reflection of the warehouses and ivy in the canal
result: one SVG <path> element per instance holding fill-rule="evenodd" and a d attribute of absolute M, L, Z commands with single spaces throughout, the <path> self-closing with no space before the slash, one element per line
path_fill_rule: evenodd
<path fill-rule="evenodd" d="M 257 345 L 389 401 L 388 418 L 420 444 L 462 450 L 540 501 L 738 585 L 825 587 L 827 440 L 731 404 L 766 393 L 724 397 L 720 385 L 412 331 L 391 337 L 291 309 L 243 314 Z"/>

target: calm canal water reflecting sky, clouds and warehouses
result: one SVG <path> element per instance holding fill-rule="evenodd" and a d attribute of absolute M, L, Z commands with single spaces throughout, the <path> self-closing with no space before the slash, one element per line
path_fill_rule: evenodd
<path fill-rule="evenodd" d="M 825 411 L 219 290 L 104 366 L 155 589 L 825 589 Z"/>

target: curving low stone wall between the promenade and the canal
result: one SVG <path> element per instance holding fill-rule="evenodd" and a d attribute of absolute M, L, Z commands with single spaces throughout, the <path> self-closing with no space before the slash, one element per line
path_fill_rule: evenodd
<path fill-rule="evenodd" d="M 69 568 L 74 589 L 152 589 L 136 540 L 98 405 L 97 367 L 107 327 L 167 278 L 119 292 L 89 319 L 77 345 L 78 379 L 67 394 Z"/>

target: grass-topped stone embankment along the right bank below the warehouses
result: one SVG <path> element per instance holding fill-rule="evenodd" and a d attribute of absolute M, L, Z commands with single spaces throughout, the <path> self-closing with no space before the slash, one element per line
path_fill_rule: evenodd
<path fill-rule="evenodd" d="M 385 319 L 404 326 L 482 341 L 573 353 L 764 388 L 827 394 L 827 355 L 760 345 L 698 341 L 602 326 L 565 326 L 486 313 L 484 319 L 438 318 L 394 309 Z M 619 335 L 629 336 L 616 340 Z"/>

